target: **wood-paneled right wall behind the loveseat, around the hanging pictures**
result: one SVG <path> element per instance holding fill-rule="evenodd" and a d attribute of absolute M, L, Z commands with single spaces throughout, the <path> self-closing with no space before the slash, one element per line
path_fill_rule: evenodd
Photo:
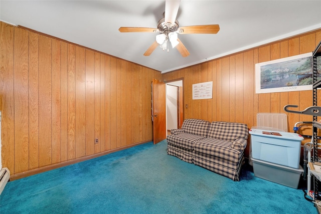
<path fill-rule="evenodd" d="M 296 122 L 312 121 L 312 116 L 287 113 L 285 105 L 298 105 L 296 111 L 312 106 L 312 90 L 255 93 L 255 64 L 312 52 L 321 40 L 321 30 L 253 48 L 174 72 L 163 74 L 163 81 L 183 78 L 184 118 L 240 122 L 256 126 L 256 114 L 286 113 L 288 131 Z M 213 81 L 213 99 L 193 100 L 192 85 Z M 318 97 L 321 104 L 321 96 Z M 312 135 L 309 127 L 301 134 Z M 307 140 L 310 141 L 310 140 Z M 248 147 L 245 156 L 248 157 Z"/>

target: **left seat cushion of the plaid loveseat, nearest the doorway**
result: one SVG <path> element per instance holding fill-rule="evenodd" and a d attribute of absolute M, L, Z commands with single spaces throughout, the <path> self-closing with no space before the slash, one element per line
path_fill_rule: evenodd
<path fill-rule="evenodd" d="M 193 150 L 194 144 L 206 137 L 200 135 L 194 135 L 189 133 L 183 133 L 178 135 L 168 135 L 167 142 L 169 144 L 174 144 L 178 147 Z"/>

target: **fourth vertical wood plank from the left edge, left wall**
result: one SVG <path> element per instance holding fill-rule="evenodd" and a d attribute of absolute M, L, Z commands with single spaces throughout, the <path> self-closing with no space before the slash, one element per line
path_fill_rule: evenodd
<path fill-rule="evenodd" d="M 52 39 L 39 36 L 39 166 L 52 162 Z"/>

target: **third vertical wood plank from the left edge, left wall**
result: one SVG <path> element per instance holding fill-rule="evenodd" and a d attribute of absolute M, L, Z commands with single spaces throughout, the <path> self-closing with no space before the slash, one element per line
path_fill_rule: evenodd
<path fill-rule="evenodd" d="M 29 32 L 29 169 L 39 167 L 39 35 Z M 59 71 L 60 73 L 60 71 Z"/>

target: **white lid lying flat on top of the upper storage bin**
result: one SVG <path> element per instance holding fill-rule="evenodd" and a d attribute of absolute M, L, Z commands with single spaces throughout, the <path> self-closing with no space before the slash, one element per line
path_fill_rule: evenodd
<path fill-rule="evenodd" d="M 266 129 L 250 129 L 249 133 L 251 135 L 258 135 L 262 137 L 273 137 L 273 138 L 282 138 L 282 139 L 299 140 L 299 141 L 304 140 L 304 138 L 301 135 L 297 133 L 291 133 L 291 132 L 271 131 Z"/>

